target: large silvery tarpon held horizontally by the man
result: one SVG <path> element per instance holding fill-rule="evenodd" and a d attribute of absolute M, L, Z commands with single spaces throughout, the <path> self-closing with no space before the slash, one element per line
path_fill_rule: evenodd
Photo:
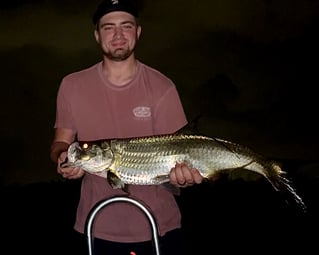
<path fill-rule="evenodd" d="M 169 182 L 176 163 L 185 162 L 208 181 L 222 173 L 246 170 L 265 177 L 276 190 L 301 198 L 284 177 L 278 163 L 246 146 L 202 135 L 172 134 L 149 137 L 74 142 L 62 167 L 80 167 L 105 177 L 113 188 L 127 184 L 159 185 Z"/>

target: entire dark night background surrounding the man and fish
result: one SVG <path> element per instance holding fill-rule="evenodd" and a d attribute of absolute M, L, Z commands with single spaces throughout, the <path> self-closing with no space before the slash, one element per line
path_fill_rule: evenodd
<path fill-rule="evenodd" d="M 0 3 L 2 220 L 4 244 L 16 241 L 8 246 L 17 252 L 80 247 L 72 234 L 79 182 L 60 179 L 49 147 L 62 77 L 101 59 L 91 23 L 97 2 Z M 137 57 L 176 83 L 192 127 L 278 160 L 308 207 L 300 212 L 263 181 L 187 188 L 177 200 L 194 254 L 253 252 L 253 243 L 316 249 L 318 5 L 141 1 Z"/>

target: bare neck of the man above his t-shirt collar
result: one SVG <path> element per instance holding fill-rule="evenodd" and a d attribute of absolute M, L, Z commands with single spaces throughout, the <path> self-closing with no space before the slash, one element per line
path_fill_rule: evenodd
<path fill-rule="evenodd" d="M 123 61 L 104 59 L 102 68 L 104 75 L 111 83 L 123 86 L 135 77 L 137 60 L 133 56 Z"/>

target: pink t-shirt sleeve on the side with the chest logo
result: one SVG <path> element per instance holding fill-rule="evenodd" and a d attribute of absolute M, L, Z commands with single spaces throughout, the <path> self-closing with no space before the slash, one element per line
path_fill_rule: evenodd
<path fill-rule="evenodd" d="M 175 133 L 187 124 L 186 114 L 175 86 L 161 97 L 154 110 L 156 134 Z"/>

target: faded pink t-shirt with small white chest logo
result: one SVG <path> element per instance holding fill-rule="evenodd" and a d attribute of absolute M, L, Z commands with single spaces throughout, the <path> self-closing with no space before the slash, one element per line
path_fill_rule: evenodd
<path fill-rule="evenodd" d="M 102 73 L 99 62 L 64 77 L 57 97 L 55 128 L 69 128 L 78 140 L 139 137 L 174 133 L 187 124 L 174 83 L 157 70 L 138 62 L 136 77 L 118 87 Z M 161 185 L 131 185 L 130 197 L 146 204 L 160 235 L 179 228 L 181 215 L 174 195 Z M 75 229 L 84 233 L 89 211 L 103 199 L 125 195 L 102 177 L 85 174 Z M 94 236 L 118 242 L 152 238 L 144 213 L 128 203 L 113 203 L 95 218 Z"/>

